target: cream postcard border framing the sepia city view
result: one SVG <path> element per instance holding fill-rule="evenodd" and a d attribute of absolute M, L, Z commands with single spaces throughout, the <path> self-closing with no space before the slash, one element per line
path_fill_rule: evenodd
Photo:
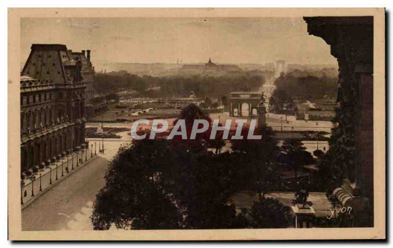
<path fill-rule="evenodd" d="M 20 205 L 20 19 L 132 17 L 374 16 L 374 227 L 227 230 L 22 231 Z M 8 9 L 8 238 L 10 240 L 318 240 L 386 237 L 384 8 Z"/>

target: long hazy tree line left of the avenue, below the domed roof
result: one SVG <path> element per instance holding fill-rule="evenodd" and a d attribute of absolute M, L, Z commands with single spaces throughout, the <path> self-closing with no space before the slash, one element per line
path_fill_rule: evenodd
<path fill-rule="evenodd" d="M 164 77 L 138 76 L 129 73 L 121 75 L 97 73 L 94 89 L 103 95 L 121 90 L 135 90 L 141 95 L 156 97 L 189 96 L 193 92 L 197 97 L 219 98 L 232 91 L 256 90 L 264 82 L 263 76 L 247 72 L 223 76 L 179 75 Z M 161 90 L 158 92 L 149 91 L 154 87 L 161 87 Z"/>

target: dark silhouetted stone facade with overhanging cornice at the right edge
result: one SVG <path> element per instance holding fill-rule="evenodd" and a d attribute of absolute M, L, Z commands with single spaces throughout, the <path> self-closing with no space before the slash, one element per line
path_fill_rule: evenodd
<path fill-rule="evenodd" d="M 373 226 L 373 17 L 304 19 L 309 34 L 331 46 L 339 66 L 337 101 L 354 112 L 349 124 L 355 124 L 355 164 L 334 194 L 354 210 L 348 226 Z"/>

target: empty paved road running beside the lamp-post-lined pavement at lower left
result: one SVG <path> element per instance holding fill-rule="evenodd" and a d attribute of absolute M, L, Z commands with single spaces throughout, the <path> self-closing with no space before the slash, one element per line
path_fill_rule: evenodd
<path fill-rule="evenodd" d="M 109 160 L 97 157 L 22 211 L 22 230 L 91 230 L 92 204 Z"/>

